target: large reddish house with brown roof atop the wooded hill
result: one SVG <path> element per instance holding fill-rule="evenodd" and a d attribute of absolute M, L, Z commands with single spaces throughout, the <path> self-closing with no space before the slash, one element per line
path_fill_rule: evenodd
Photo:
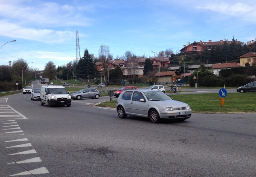
<path fill-rule="evenodd" d="M 217 46 L 223 46 L 224 45 L 223 40 L 220 41 L 212 41 L 209 40 L 208 42 L 203 42 L 202 40 L 200 40 L 200 42 L 196 42 L 194 41 L 193 43 L 190 44 L 190 42 L 188 43 L 188 45 L 183 45 L 183 48 L 180 49 L 180 53 L 199 53 L 201 54 L 202 51 L 204 51 L 205 49 L 211 50 L 212 48 L 215 48 Z M 233 40 L 228 41 L 228 39 L 226 40 L 226 43 L 229 45 L 233 42 Z M 244 43 L 242 43 L 241 41 L 238 41 L 236 39 L 236 43 L 244 45 Z"/>

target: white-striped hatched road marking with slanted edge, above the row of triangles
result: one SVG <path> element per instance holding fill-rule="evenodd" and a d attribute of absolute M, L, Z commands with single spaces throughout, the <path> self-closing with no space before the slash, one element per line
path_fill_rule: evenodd
<path fill-rule="evenodd" d="M 27 119 L 27 117 L 23 116 L 20 112 L 14 110 L 9 105 L 0 105 L 0 120 L 8 120 L 8 119 Z M 7 123 L 6 123 L 7 124 Z M 11 122 L 8 124 L 12 124 Z"/>

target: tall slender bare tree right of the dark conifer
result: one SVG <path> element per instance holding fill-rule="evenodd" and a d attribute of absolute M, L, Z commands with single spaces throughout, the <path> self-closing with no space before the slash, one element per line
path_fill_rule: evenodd
<path fill-rule="evenodd" d="M 100 46 L 100 50 L 99 50 L 99 59 L 102 62 L 102 69 L 103 69 L 103 73 L 105 74 L 105 80 L 107 81 L 107 74 L 108 74 L 108 65 L 109 65 L 109 60 L 111 60 L 111 57 L 113 57 L 113 55 L 110 55 L 109 53 L 109 47 L 108 46 Z M 108 86 L 108 82 L 107 82 L 107 86 Z"/>

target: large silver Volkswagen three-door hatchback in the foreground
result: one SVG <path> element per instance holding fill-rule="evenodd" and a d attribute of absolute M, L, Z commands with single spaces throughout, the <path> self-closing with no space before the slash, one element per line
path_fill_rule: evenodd
<path fill-rule="evenodd" d="M 148 117 L 152 123 L 158 123 L 160 118 L 185 120 L 192 114 L 188 104 L 172 100 L 161 91 L 148 89 L 122 92 L 116 110 L 120 118 L 127 115 Z"/>

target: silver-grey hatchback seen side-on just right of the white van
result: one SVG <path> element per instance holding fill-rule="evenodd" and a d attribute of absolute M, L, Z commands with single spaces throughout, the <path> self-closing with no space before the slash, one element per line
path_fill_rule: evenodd
<path fill-rule="evenodd" d="M 82 98 L 96 98 L 98 99 L 100 97 L 100 91 L 96 88 L 84 88 L 80 90 L 79 92 L 72 93 L 71 98 L 74 100 L 80 100 Z"/>

